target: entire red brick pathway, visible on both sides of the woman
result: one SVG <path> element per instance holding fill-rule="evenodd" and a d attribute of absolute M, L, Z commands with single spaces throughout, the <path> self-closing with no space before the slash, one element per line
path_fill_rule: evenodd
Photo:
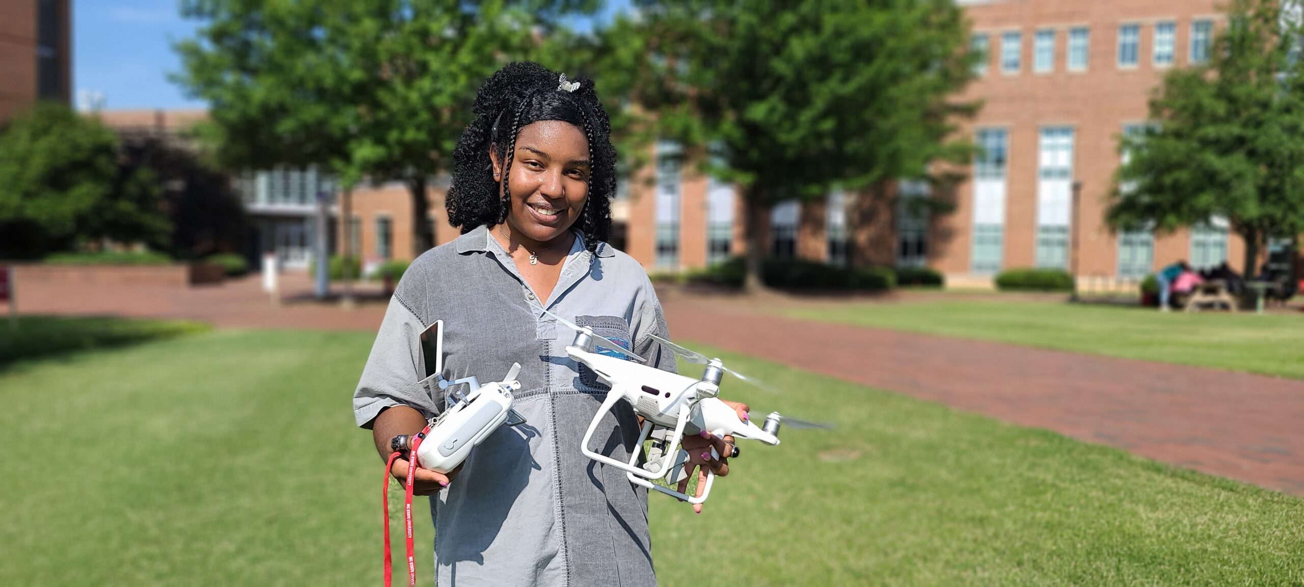
<path fill-rule="evenodd" d="M 385 313 L 374 286 L 353 310 L 312 301 L 306 277 L 287 277 L 284 291 L 273 307 L 257 279 L 193 288 L 20 284 L 18 308 L 370 331 Z M 662 303 L 675 338 L 1304 494 L 1304 381 L 758 317 L 728 297 L 665 292 Z"/>

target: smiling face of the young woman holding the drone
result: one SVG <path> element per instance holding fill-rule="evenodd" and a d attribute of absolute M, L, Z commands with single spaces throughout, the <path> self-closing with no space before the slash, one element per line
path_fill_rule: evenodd
<path fill-rule="evenodd" d="M 496 153 L 490 157 L 494 176 L 502 177 L 503 162 Z M 507 170 L 507 223 L 540 243 L 565 233 L 588 198 L 589 163 L 588 137 L 574 124 L 540 120 L 522 127 Z"/>

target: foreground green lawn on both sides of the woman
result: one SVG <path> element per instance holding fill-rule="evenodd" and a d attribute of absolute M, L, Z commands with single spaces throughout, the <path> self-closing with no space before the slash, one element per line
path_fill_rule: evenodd
<path fill-rule="evenodd" d="M 0 584 L 377 583 L 383 467 L 349 412 L 370 343 L 213 331 L 0 372 Z M 838 428 L 745 444 L 703 515 L 652 496 L 662 584 L 1304 582 L 1296 497 L 712 355 L 805 390 L 726 397 Z"/>

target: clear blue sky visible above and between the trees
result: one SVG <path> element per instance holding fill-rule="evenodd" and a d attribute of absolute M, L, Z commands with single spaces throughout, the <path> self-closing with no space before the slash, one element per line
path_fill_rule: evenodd
<path fill-rule="evenodd" d="M 610 0 L 604 12 L 627 5 Z M 175 0 L 73 0 L 73 89 L 99 91 L 107 110 L 202 108 L 167 80 L 181 68 L 172 40 L 196 26 Z"/>

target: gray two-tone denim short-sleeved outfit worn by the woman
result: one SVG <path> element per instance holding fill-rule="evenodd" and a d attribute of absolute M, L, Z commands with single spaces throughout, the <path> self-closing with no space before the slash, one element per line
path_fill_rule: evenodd
<path fill-rule="evenodd" d="M 674 355 L 648 338 L 669 333 L 647 273 L 606 243 L 585 250 L 579 236 L 546 309 L 673 372 Z M 395 288 L 353 393 L 357 424 L 370 428 L 390 406 L 428 417 L 443 408 L 443 391 L 419 384 L 417 339 L 443 320 L 445 377 L 498 381 L 520 363 L 515 408 L 527 423 L 490 434 L 430 496 L 437 583 L 653 586 L 647 492 L 580 453 L 608 387 L 566 356 L 574 333 L 542 308 L 485 227 L 421 254 Z M 638 421 L 623 402 L 612 414 L 592 445 L 629 459 Z"/>

